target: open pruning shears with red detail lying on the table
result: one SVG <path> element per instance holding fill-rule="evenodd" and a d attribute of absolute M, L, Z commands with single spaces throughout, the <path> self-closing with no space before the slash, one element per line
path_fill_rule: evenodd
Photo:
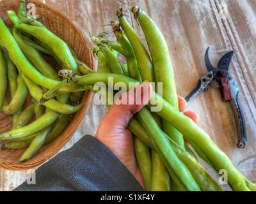
<path fill-rule="evenodd" d="M 208 73 L 204 77 L 200 78 L 198 85 L 190 94 L 188 94 L 186 100 L 189 103 L 198 94 L 200 94 L 200 92 L 207 91 L 210 87 L 220 89 L 223 101 L 230 102 L 234 113 L 238 139 L 237 147 L 239 149 L 244 149 L 246 147 L 247 137 L 243 112 L 238 101 L 239 89 L 235 80 L 230 77 L 230 74 L 228 73 L 228 68 L 233 55 L 233 51 L 223 55 L 217 68 L 214 68 L 209 60 L 209 48 L 207 48 L 205 52 L 205 65 Z"/>

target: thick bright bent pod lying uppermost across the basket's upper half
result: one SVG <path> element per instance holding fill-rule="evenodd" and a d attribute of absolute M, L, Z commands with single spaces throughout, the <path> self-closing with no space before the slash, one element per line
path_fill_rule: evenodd
<path fill-rule="evenodd" d="M 76 61 L 74 60 L 67 43 L 49 31 L 46 27 L 22 24 L 14 11 L 8 11 L 8 17 L 10 17 L 15 27 L 21 31 L 31 34 L 38 40 L 51 47 L 52 52 L 56 55 L 56 57 L 58 57 L 58 59 L 60 59 L 66 69 L 71 69 L 77 73 L 77 75 L 80 74 Z"/>

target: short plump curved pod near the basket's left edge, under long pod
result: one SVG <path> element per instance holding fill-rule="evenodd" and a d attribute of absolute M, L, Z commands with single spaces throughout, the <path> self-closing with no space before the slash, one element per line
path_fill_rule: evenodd
<path fill-rule="evenodd" d="M 19 75 L 17 77 L 17 91 L 15 92 L 15 96 L 13 97 L 9 105 L 3 106 L 3 112 L 8 115 L 11 115 L 19 111 L 22 108 L 27 98 L 27 95 L 28 88 L 26 87 L 26 84 Z"/>

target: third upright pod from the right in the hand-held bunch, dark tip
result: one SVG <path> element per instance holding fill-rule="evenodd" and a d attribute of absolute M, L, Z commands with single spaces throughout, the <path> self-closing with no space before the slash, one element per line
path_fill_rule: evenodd
<path fill-rule="evenodd" d="M 124 56 L 127 62 L 127 69 L 128 69 L 128 77 L 134 78 L 141 82 L 141 75 L 138 68 L 138 63 L 136 60 L 135 52 L 132 48 L 131 43 L 129 42 L 128 38 L 125 36 L 124 31 L 120 29 L 120 25 L 113 24 L 114 33 L 116 39 L 122 45 L 122 49 L 124 50 Z"/>

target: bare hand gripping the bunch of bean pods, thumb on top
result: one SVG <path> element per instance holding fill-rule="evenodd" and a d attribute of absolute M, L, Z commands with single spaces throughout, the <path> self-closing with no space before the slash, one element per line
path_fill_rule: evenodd
<path fill-rule="evenodd" d="M 136 93 L 141 93 L 140 99 L 136 98 Z M 111 106 L 109 112 L 100 122 L 96 134 L 96 138 L 108 147 L 118 159 L 120 159 L 124 166 L 131 171 L 132 175 L 134 175 L 141 186 L 143 186 L 143 180 L 134 154 L 132 133 L 127 129 L 127 126 L 132 119 L 133 114 L 139 112 L 141 108 L 147 105 L 151 96 L 152 86 L 148 82 L 143 82 L 131 91 L 122 94 L 122 96 L 120 96 L 122 101 L 129 101 L 130 97 L 134 97 L 134 104 L 123 105 L 123 103 L 121 105 L 115 104 Z M 140 100 L 140 103 L 135 103 L 138 100 Z M 183 111 L 185 108 L 186 101 L 179 96 L 179 110 Z M 199 120 L 199 117 L 195 112 L 186 111 L 184 114 L 195 122 L 198 122 Z"/>

